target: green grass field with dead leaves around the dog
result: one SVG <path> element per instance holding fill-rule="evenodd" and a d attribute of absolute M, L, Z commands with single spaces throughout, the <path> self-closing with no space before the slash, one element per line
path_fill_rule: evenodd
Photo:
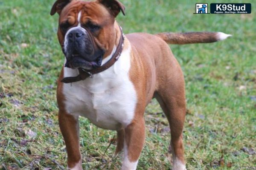
<path fill-rule="evenodd" d="M 237 2 L 237 1 L 211 1 Z M 188 170 L 256 170 L 256 1 L 252 14 L 193 14 L 195 1 L 122 0 L 124 32 L 222 31 L 212 44 L 171 45 L 186 80 Z M 67 154 L 58 128 L 56 79 L 64 62 L 54 0 L 0 0 L 0 169 L 58 170 Z M 254 16 L 254 17 L 253 17 Z M 169 170 L 168 122 L 152 100 L 138 170 Z M 80 118 L 84 170 L 118 170 L 116 132 Z"/>

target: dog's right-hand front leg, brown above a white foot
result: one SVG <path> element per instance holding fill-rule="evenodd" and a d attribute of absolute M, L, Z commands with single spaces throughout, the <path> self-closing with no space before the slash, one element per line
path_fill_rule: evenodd
<path fill-rule="evenodd" d="M 140 153 L 145 142 L 143 117 L 134 120 L 125 128 L 124 159 L 122 170 L 136 170 Z"/>

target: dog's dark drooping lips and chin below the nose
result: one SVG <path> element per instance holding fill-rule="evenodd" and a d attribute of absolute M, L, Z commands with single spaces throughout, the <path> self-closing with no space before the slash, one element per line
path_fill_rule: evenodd
<path fill-rule="evenodd" d="M 72 69 L 84 68 L 87 70 L 92 70 L 94 68 L 99 68 L 102 65 L 102 58 L 103 55 L 99 55 L 99 57 L 96 57 L 96 59 L 88 61 L 78 53 L 74 52 L 72 54 L 72 57 L 70 57 L 70 59 L 67 60 L 65 67 Z"/>

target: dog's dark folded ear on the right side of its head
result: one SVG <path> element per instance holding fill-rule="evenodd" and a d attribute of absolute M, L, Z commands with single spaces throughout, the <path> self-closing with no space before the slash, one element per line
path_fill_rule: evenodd
<path fill-rule="evenodd" d="M 125 6 L 118 0 L 98 0 L 98 2 L 108 8 L 114 17 L 116 17 L 120 11 L 125 15 Z"/>

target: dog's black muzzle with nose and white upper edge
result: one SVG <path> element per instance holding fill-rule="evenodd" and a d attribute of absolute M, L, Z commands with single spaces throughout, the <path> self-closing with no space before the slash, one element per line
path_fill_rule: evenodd
<path fill-rule="evenodd" d="M 96 46 L 93 36 L 82 27 L 67 31 L 64 40 L 65 67 L 91 70 L 102 64 L 104 51 Z"/>

